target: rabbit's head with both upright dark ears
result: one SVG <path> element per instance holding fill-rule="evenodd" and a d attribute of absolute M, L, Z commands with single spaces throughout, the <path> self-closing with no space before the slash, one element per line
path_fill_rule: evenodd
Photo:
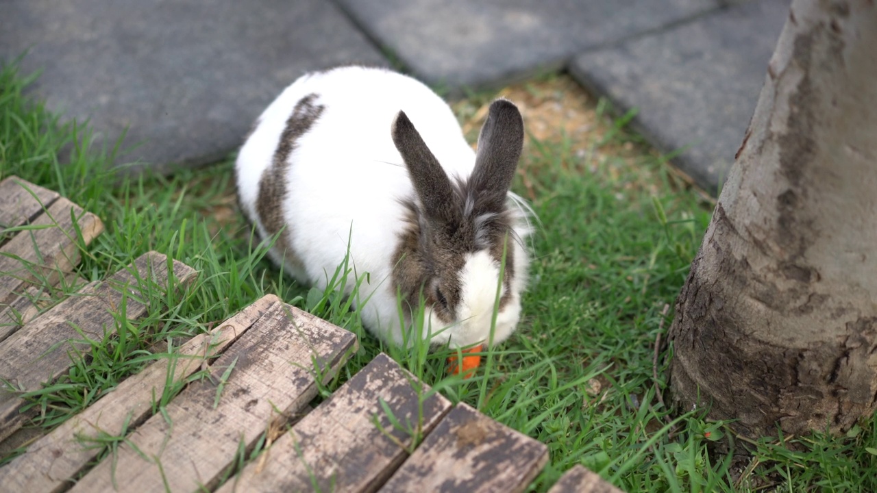
<path fill-rule="evenodd" d="M 403 111 L 391 133 L 415 192 L 403 200 L 407 227 L 392 259 L 403 306 L 410 315 L 423 297 L 424 330 L 435 343 L 465 347 L 508 338 L 523 289 L 516 262 L 522 272 L 526 262 L 509 195 L 524 143 L 520 112 L 503 99 L 490 104 L 472 174 L 453 179 Z"/>

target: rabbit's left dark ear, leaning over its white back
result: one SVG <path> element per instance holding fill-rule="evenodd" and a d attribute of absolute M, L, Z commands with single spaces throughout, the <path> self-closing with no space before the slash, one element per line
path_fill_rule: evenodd
<path fill-rule="evenodd" d="M 454 219 L 453 189 L 439 160 L 432 155 L 414 124 L 404 111 L 399 111 L 393 121 L 393 143 L 414 183 L 424 215 L 432 220 L 451 222 Z"/>

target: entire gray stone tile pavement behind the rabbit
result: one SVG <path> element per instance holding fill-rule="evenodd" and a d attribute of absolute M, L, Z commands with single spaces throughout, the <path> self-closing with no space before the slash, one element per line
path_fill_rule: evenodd
<path fill-rule="evenodd" d="M 119 162 L 232 152 L 306 71 L 389 65 L 449 94 L 568 68 L 715 193 L 745 132 L 789 0 L 5 0 L 0 60 L 48 107 L 90 118 Z"/>

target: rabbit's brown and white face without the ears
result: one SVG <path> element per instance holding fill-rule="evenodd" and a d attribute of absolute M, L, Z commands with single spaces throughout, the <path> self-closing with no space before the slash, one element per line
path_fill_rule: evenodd
<path fill-rule="evenodd" d="M 455 196 L 466 194 L 454 187 Z M 413 317 L 424 302 L 423 334 L 434 344 L 499 343 L 515 330 L 526 257 L 508 211 L 471 218 L 465 200 L 456 220 L 430 222 L 410 208 L 408 228 L 393 258 L 393 289 Z M 496 323 L 494 314 L 496 313 Z"/>

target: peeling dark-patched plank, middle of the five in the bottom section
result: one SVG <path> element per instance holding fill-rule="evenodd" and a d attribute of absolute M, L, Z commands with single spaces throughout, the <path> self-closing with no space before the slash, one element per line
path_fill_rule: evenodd
<path fill-rule="evenodd" d="M 420 432 L 428 433 L 451 408 L 445 397 L 429 391 L 379 354 L 218 492 L 374 491 L 412 445 L 409 430 L 393 426 L 381 400 L 397 423 L 416 430 L 417 395 L 424 396 Z"/>

